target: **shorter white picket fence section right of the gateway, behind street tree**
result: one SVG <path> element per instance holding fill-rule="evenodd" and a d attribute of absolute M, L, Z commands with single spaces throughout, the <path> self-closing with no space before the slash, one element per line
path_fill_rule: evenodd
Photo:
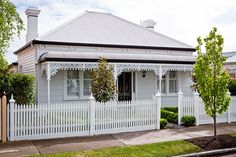
<path fill-rule="evenodd" d="M 206 114 L 204 104 L 198 93 L 194 93 L 193 96 L 184 96 L 183 93 L 178 93 L 178 116 L 179 124 L 181 124 L 183 116 L 195 116 L 196 125 L 213 123 L 213 119 Z M 228 110 L 221 115 L 217 115 L 217 123 L 223 122 L 236 122 L 235 96 L 231 97 Z"/>

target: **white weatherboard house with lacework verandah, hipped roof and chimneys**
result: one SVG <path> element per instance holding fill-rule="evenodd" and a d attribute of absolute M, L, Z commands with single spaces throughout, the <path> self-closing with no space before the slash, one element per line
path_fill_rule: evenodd
<path fill-rule="evenodd" d="M 109 13 L 86 11 L 38 37 L 40 10 L 28 8 L 26 44 L 15 51 L 18 72 L 36 78 L 36 102 L 86 100 L 90 71 L 99 57 L 114 66 L 119 100 L 149 99 L 159 90 L 162 105 L 177 105 L 177 92 L 191 95 L 195 49 Z M 160 81 L 161 80 L 161 81 Z"/>

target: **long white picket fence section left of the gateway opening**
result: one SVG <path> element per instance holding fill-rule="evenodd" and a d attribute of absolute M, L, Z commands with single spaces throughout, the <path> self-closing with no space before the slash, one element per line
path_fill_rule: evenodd
<path fill-rule="evenodd" d="M 10 100 L 9 139 L 32 140 L 160 129 L 152 100 L 18 105 Z"/>

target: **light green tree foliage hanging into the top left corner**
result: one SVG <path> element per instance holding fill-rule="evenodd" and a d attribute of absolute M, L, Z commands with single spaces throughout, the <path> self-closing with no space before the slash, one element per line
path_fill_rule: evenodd
<path fill-rule="evenodd" d="M 0 1 L 0 53 L 4 54 L 13 36 L 24 29 L 16 7 L 9 0 Z"/>

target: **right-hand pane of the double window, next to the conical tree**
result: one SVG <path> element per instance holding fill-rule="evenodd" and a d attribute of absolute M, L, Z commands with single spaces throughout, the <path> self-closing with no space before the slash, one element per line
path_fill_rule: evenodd
<path fill-rule="evenodd" d="M 84 96 L 89 96 L 91 94 L 91 71 L 84 71 L 84 79 L 83 79 L 83 94 Z"/>

